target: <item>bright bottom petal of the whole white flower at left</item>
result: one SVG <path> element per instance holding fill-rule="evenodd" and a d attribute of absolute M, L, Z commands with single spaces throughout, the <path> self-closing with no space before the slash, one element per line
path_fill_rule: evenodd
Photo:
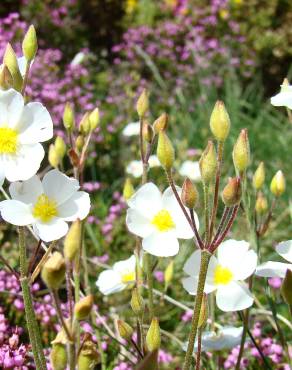
<path fill-rule="evenodd" d="M 33 229 L 41 240 L 51 242 L 65 236 L 68 232 L 68 225 L 61 218 L 54 218 L 47 223 L 35 223 Z"/>

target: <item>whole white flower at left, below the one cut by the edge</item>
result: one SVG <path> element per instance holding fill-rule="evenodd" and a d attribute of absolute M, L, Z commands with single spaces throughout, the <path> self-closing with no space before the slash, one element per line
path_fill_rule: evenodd
<path fill-rule="evenodd" d="M 18 226 L 33 225 L 45 242 L 62 238 L 67 221 L 83 220 L 90 209 L 89 195 L 78 191 L 79 183 L 58 170 L 10 184 L 10 200 L 0 202 L 2 218 Z"/>

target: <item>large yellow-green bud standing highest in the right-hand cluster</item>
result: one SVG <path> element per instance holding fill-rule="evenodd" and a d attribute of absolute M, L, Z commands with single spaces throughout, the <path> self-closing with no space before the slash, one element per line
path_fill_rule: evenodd
<path fill-rule="evenodd" d="M 210 117 L 210 128 L 216 140 L 224 142 L 230 130 L 230 118 L 225 105 L 218 100 Z"/>

